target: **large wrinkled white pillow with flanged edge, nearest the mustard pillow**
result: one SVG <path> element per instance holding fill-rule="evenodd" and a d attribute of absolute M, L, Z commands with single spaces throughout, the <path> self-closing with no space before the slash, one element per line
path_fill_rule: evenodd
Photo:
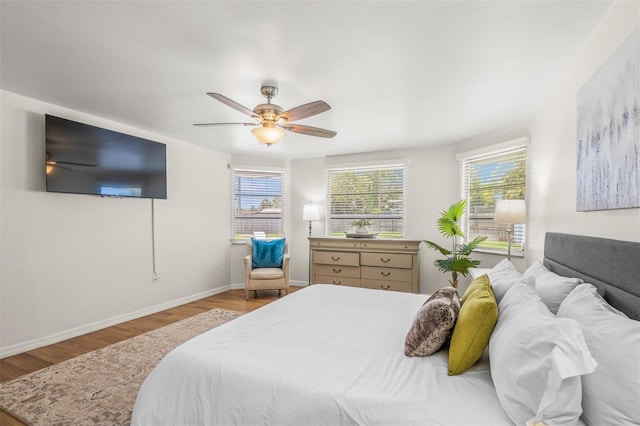
<path fill-rule="evenodd" d="M 505 413 L 518 425 L 575 425 L 582 414 L 580 376 L 597 366 L 580 326 L 556 318 L 525 283 L 507 291 L 498 311 L 489 359 Z"/>

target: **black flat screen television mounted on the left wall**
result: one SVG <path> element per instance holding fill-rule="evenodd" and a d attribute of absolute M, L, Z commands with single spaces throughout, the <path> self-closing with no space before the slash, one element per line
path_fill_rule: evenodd
<path fill-rule="evenodd" d="M 166 145 L 45 116 L 47 192 L 167 198 Z"/>

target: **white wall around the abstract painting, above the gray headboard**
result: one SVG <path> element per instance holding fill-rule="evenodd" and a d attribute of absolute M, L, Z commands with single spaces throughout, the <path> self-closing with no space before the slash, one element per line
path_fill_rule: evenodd
<path fill-rule="evenodd" d="M 613 3 L 531 123 L 528 182 L 531 260 L 542 258 L 547 231 L 640 241 L 638 208 L 576 211 L 577 93 L 639 24 L 640 2 Z"/>

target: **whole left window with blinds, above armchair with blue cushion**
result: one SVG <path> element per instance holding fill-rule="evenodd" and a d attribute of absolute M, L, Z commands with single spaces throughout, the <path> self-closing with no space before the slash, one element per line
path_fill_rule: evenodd
<path fill-rule="evenodd" d="M 284 172 L 233 169 L 232 239 L 284 233 Z"/>

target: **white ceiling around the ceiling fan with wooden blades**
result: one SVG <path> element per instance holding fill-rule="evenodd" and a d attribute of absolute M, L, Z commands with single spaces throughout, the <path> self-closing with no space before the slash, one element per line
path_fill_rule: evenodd
<path fill-rule="evenodd" d="M 611 1 L 5 1 L 1 84 L 238 155 L 307 158 L 458 142 L 526 126 Z M 249 128 L 263 82 L 333 139 Z"/>

